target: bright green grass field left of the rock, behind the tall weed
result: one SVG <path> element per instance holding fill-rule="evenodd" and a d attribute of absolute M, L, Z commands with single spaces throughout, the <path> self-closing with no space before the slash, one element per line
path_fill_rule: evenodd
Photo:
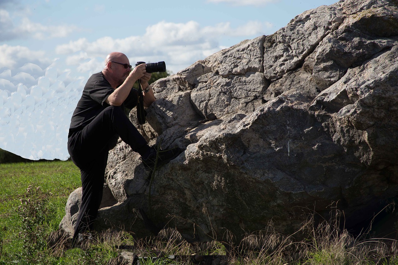
<path fill-rule="evenodd" d="M 81 186 L 80 171 L 71 161 L 0 164 L 0 264 L 23 252 L 23 222 L 17 210 L 29 185 L 40 187 L 40 197 L 46 198 L 51 214 L 45 216 L 45 226 L 50 232 L 57 230 L 65 215 L 69 194 Z"/>

